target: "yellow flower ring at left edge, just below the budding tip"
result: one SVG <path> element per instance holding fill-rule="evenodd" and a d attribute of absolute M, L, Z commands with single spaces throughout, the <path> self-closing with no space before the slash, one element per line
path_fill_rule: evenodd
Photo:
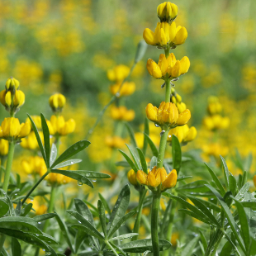
<path fill-rule="evenodd" d="M 0 126 L 0 138 L 5 140 L 17 140 L 29 135 L 31 126 L 29 123 L 22 123 L 15 117 L 7 117 Z"/>

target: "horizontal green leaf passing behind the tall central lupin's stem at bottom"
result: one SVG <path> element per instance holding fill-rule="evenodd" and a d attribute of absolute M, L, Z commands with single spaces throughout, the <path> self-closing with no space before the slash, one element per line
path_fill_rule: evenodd
<path fill-rule="evenodd" d="M 164 239 L 159 239 L 159 250 L 164 251 L 172 246 L 170 242 Z M 151 239 L 140 239 L 136 241 L 131 241 L 126 244 L 121 244 L 120 248 L 126 253 L 136 253 L 143 254 L 145 251 L 153 251 L 152 240 Z"/>

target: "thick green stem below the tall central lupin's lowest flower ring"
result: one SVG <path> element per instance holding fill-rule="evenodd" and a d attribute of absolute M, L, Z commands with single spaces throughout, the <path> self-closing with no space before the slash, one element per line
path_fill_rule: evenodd
<path fill-rule="evenodd" d="M 151 239 L 154 256 L 159 256 L 159 232 L 158 216 L 161 192 L 153 192 L 152 211 L 151 211 Z"/>

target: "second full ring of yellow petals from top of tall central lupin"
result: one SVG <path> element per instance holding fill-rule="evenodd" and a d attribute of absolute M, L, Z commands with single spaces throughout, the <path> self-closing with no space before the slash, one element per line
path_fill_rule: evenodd
<path fill-rule="evenodd" d="M 166 73 L 168 73 L 169 78 L 178 78 L 181 74 L 187 73 L 189 67 L 190 61 L 187 56 L 177 60 L 173 53 L 168 56 L 168 59 L 166 59 L 165 55 L 160 55 L 158 64 L 153 59 L 148 59 L 147 61 L 149 74 L 154 78 L 165 79 Z"/>

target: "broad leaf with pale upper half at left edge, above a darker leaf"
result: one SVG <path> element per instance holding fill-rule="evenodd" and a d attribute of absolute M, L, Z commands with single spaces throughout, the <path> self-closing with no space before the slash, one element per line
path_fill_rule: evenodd
<path fill-rule="evenodd" d="M 42 232 L 36 227 L 37 222 L 28 217 L 2 217 L 0 219 L 0 228 L 1 229 L 10 229 L 10 230 L 21 230 L 23 232 L 42 234 Z"/>

